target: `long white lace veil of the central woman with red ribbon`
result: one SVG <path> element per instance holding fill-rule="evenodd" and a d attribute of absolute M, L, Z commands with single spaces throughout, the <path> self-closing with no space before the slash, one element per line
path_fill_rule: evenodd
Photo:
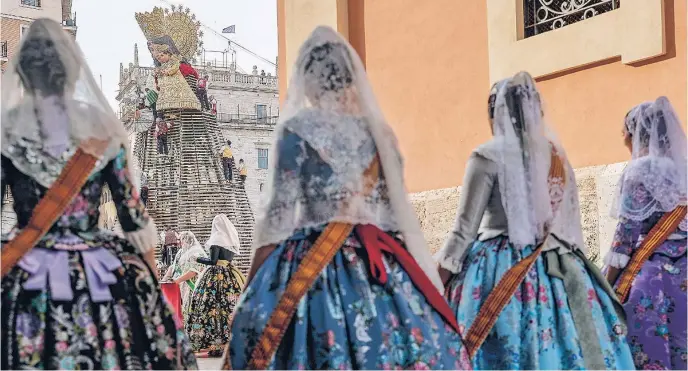
<path fill-rule="evenodd" d="M 337 32 L 320 26 L 301 47 L 293 71 L 275 129 L 275 145 L 283 138 L 286 129 L 297 133 L 330 165 L 337 186 L 348 198 L 346 202 L 326 200 L 331 206 L 322 213 L 327 215 L 327 220 L 305 216 L 298 203 L 282 205 L 284 202 L 276 202 L 280 198 L 288 199 L 285 193 L 293 194 L 301 187 L 297 179 L 289 182 L 282 178 L 278 180 L 282 175 L 276 171 L 280 159 L 275 147 L 273 153 L 276 157 L 272 160 L 267 197 L 264 199 L 267 204 L 259 210 L 256 218 L 254 246 L 279 243 L 299 228 L 330 221 L 373 224 L 383 230 L 399 231 L 419 266 L 442 291 L 442 281 L 406 194 L 396 137 L 377 104 L 356 51 Z M 312 99 L 317 100 L 317 107 Z M 346 129 L 341 129 L 342 126 Z M 362 174 L 372 161 L 372 155 L 366 153 L 372 151 L 364 151 L 357 146 L 370 143 L 371 137 L 380 157 L 381 183 L 385 184 L 386 191 L 366 198 L 362 193 Z M 352 156 L 352 151 L 356 153 L 357 148 L 360 148 L 361 155 Z M 343 169 L 349 170 L 341 171 Z M 284 189 L 276 189 L 276 184 Z M 321 184 L 320 187 L 327 185 Z M 302 191 L 305 192 L 303 197 L 308 198 L 309 190 Z M 293 196 L 295 200 L 296 196 Z"/>

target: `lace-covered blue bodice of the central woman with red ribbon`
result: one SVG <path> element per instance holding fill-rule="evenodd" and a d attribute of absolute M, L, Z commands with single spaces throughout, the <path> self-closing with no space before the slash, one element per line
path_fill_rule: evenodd
<path fill-rule="evenodd" d="M 369 194 L 363 192 L 363 173 L 377 153 L 364 121 L 306 112 L 285 126 L 270 198 L 258 217 L 258 246 L 331 221 L 398 230 L 384 174 Z"/>

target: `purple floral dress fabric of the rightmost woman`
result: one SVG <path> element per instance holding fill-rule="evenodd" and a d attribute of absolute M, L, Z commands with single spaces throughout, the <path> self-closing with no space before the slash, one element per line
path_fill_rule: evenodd
<path fill-rule="evenodd" d="M 640 245 L 641 236 L 662 215 L 654 213 L 642 222 L 622 218 L 611 251 L 630 258 Z M 675 235 L 684 238 L 667 240 L 655 250 L 641 267 L 628 300 L 623 303 L 631 351 L 639 370 L 688 368 L 685 231 L 677 229 Z"/>

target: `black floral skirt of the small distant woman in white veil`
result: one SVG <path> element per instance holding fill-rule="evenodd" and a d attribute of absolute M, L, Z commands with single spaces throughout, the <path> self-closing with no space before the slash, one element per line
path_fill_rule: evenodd
<path fill-rule="evenodd" d="M 246 279 L 232 264 L 212 265 L 196 280 L 186 333 L 195 352 L 221 350 L 229 342 L 229 321 Z"/>

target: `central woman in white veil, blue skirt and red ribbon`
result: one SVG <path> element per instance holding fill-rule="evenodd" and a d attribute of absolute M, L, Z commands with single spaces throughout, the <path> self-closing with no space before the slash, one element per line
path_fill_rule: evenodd
<path fill-rule="evenodd" d="M 318 27 L 287 97 L 231 367 L 469 368 L 358 55 Z"/>

